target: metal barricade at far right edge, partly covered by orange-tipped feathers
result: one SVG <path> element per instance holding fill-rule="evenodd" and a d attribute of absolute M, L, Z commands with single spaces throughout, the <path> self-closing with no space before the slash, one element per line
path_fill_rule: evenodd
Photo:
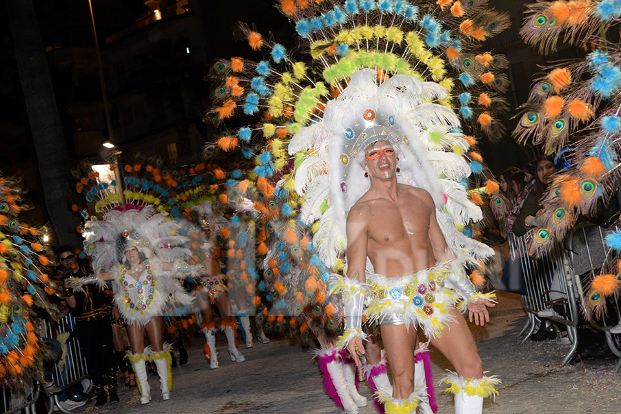
<path fill-rule="evenodd" d="M 613 259 L 611 249 L 604 243 L 605 231 L 606 229 L 600 226 L 582 224 L 577 226 L 567 237 L 566 246 L 575 273 L 575 284 L 578 288 L 580 303 L 588 300 L 586 298 L 586 286 L 583 285 L 586 278 L 592 280 L 593 277 L 600 274 L 601 270 L 616 267 L 615 264 L 611 263 Z M 609 299 L 607 312 L 601 319 L 595 317 L 589 319 L 591 326 L 604 332 L 610 350 L 617 357 L 620 357 L 615 365 L 615 371 L 619 371 L 621 368 L 621 349 L 610 333 L 610 329 L 620 322 L 620 302 L 616 296 Z"/>

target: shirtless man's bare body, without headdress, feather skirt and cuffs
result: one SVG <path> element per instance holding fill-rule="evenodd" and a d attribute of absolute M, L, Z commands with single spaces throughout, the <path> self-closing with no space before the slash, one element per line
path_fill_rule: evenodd
<path fill-rule="evenodd" d="M 366 148 L 365 158 L 362 167 L 368 173 L 371 188 L 348 215 L 347 276 L 366 283 L 367 257 L 375 273 L 388 278 L 412 275 L 435 266 L 438 261 L 454 259 L 437 224 L 431 195 L 421 188 L 397 184 L 397 157 L 392 144 L 376 141 Z M 486 307 L 494 306 L 491 302 L 480 298 L 467 306 L 471 322 L 477 325 L 489 322 Z M 444 329 L 440 337 L 431 338 L 431 344 L 449 359 L 459 377 L 474 383 L 483 377 L 483 363 L 460 311 L 453 306 L 450 315 L 449 328 Z M 407 400 L 415 392 L 416 328 L 406 325 L 399 317 L 380 319 L 380 331 L 393 373 L 395 408 L 402 406 L 403 401 L 399 400 Z M 360 365 L 359 357 L 365 353 L 362 339 L 354 337 L 347 349 Z M 463 391 L 456 393 L 455 413 L 480 413 L 481 410 L 482 396 L 465 395 Z"/>

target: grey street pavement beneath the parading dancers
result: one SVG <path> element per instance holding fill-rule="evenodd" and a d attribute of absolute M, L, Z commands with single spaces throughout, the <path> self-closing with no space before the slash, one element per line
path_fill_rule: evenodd
<path fill-rule="evenodd" d="M 520 297 L 500 293 L 486 326 L 471 325 L 484 369 L 498 375 L 502 384 L 495 401 L 486 401 L 484 413 L 621 413 L 621 373 L 612 371 L 615 359 L 591 364 L 560 364 L 569 345 L 555 340 L 527 341 L 520 345 L 518 333 L 526 317 Z M 159 380 L 149 376 L 152 402 L 141 406 L 136 388 L 119 386 L 121 402 L 77 408 L 75 413 L 92 414 L 331 414 L 339 411 L 322 388 L 322 377 L 313 353 L 292 345 L 287 339 L 269 344 L 254 343 L 240 348 L 245 362 L 231 362 L 224 335 L 218 335 L 220 368 L 212 370 L 204 359 L 200 337 L 193 339 L 184 366 L 172 368 L 172 398 L 159 397 Z M 431 349 L 434 382 L 451 368 L 440 352 Z M 376 413 L 371 391 L 360 383 L 360 393 L 369 404 L 359 414 Z M 436 388 L 438 413 L 453 413 L 453 399 Z"/>

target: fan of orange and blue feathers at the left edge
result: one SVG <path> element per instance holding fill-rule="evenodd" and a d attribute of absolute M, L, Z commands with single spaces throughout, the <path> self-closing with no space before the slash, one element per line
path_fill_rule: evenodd
<path fill-rule="evenodd" d="M 57 313 L 42 242 L 46 230 L 21 220 L 28 208 L 22 194 L 19 181 L 0 175 L 0 383 L 9 388 L 43 380 L 39 316 L 32 306 Z"/>

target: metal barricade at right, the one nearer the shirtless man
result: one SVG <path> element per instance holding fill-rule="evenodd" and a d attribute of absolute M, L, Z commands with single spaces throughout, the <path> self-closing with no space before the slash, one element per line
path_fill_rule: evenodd
<path fill-rule="evenodd" d="M 535 259 L 529 256 L 526 235 L 508 233 L 507 239 L 511 260 L 521 266 L 526 290 L 522 303 L 528 319 L 520 334 L 528 332 L 522 344 L 535 332 L 543 312 L 545 319 L 566 326 L 572 344 L 562 361 L 562 365 L 567 364 L 578 349 L 578 292 L 564 244 L 556 244 L 550 253 Z"/>

